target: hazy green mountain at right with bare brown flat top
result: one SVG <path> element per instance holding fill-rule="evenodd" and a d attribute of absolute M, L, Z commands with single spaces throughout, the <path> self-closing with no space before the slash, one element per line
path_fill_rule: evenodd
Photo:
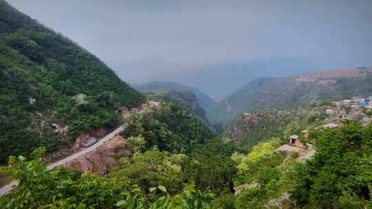
<path fill-rule="evenodd" d="M 372 95 L 372 68 L 327 70 L 256 78 L 207 111 L 213 124 L 226 124 L 244 111 L 289 109 L 322 99 Z"/>

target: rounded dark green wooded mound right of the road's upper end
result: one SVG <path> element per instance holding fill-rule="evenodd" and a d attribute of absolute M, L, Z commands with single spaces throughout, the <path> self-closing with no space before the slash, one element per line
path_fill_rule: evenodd
<path fill-rule="evenodd" d="M 185 153 L 197 144 L 203 144 L 214 134 L 196 116 L 177 104 L 133 113 L 127 121 L 125 135 L 142 135 L 146 148 L 158 146 L 163 151 Z"/>

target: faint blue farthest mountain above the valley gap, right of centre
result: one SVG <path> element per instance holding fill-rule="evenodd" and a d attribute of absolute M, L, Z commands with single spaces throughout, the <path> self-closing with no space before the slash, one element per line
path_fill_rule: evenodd
<path fill-rule="evenodd" d="M 322 62 L 312 63 L 303 58 L 256 58 L 183 71 L 174 80 L 198 87 L 216 100 L 222 100 L 255 78 L 289 76 L 322 67 Z"/>

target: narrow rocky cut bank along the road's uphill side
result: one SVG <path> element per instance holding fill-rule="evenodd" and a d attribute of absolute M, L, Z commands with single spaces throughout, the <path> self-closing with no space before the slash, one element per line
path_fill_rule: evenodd
<path fill-rule="evenodd" d="M 110 133 L 111 129 L 96 129 L 94 131 L 89 131 L 82 133 L 79 135 L 79 137 L 76 138 L 75 142 L 73 144 L 70 144 L 70 146 L 66 146 L 64 148 L 61 148 L 59 151 L 56 151 L 54 153 L 49 153 L 45 155 L 43 158 L 45 162 L 52 162 L 56 159 L 60 159 L 62 157 L 66 157 L 68 155 L 72 155 L 73 153 L 76 153 L 81 148 L 86 146 L 87 144 L 90 144 L 92 142 L 92 139 L 100 139 L 101 137 L 104 137 L 107 133 Z"/>

